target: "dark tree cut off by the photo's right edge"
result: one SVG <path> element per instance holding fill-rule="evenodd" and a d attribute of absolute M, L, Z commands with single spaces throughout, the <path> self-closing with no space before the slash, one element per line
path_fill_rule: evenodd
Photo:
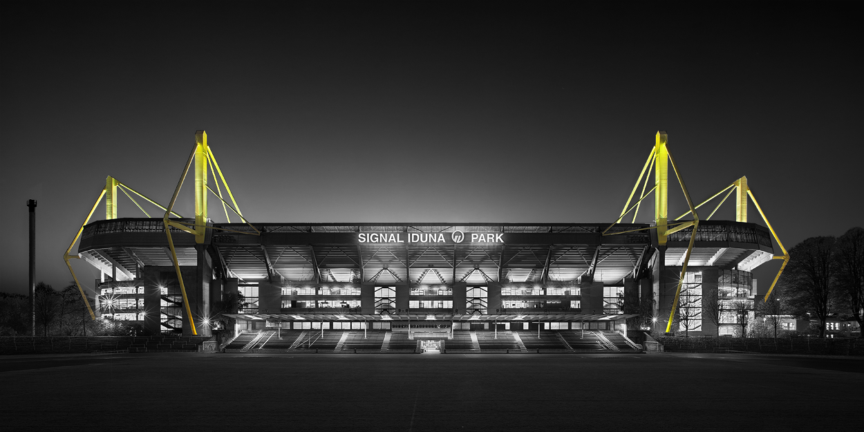
<path fill-rule="evenodd" d="M 835 264 L 837 280 L 848 308 L 858 326 L 864 328 L 864 322 L 861 322 L 861 309 L 864 308 L 864 229 L 852 228 L 837 240 Z"/>

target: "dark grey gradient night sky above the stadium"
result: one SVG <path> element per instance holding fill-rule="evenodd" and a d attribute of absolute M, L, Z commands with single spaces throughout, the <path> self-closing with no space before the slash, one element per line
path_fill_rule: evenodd
<path fill-rule="evenodd" d="M 694 200 L 746 175 L 787 248 L 840 235 L 862 4 L 3 2 L 0 291 L 27 290 L 28 199 L 61 288 L 105 176 L 167 203 L 199 129 L 260 222 L 611 222 L 666 130 Z"/>

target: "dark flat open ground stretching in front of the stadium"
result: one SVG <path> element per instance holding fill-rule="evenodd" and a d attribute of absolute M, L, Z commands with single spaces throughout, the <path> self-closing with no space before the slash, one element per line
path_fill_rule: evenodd
<path fill-rule="evenodd" d="M 815 356 L 3 356 L 0 429 L 842 431 L 862 389 Z"/>

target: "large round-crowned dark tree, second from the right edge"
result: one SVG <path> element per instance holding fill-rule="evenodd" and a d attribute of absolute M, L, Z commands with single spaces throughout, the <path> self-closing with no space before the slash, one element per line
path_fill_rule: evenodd
<path fill-rule="evenodd" d="M 807 238 L 789 251 L 789 264 L 779 286 L 792 298 L 797 314 L 812 313 L 819 320 L 819 337 L 825 335 L 825 320 L 835 307 L 836 240 L 833 237 Z"/>

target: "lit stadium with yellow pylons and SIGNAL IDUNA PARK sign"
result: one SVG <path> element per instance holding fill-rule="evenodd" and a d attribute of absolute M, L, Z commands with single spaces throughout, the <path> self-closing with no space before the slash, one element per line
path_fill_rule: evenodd
<path fill-rule="evenodd" d="M 689 199 L 664 132 L 611 224 L 251 222 L 206 133 L 195 137 L 168 205 L 108 177 L 64 255 L 103 275 L 94 319 L 136 321 L 151 334 L 226 325 L 236 338 L 226 350 L 238 352 L 617 352 L 638 349 L 628 334 L 658 322 L 666 332 L 733 332 L 734 302 L 754 301 L 751 271 L 788 259 L 746 177 L 701 204 Z M 667 162 L 691 210 L 683 222 L 666 214 Z M 173 206 L 192 168 L 196 214 L 186 218 Z M 147 217 L 118 219 L 118 192 Z M 737 192 L 736 220 L 700 219 L 697 209 L 723 192 L 718 207 Z M 133 195 L 164 215 L 149 217 Z M 208 195 L 227 222 L 208 217 Z M 748 196 L 767 228 L 746 220 Z M 91 222 L 103 197 L 105 219 Z M 635 223 L 648 197 L 655 218 Z M 714 324 L 704 315 L 718 296 L 724 318 Z"/>

